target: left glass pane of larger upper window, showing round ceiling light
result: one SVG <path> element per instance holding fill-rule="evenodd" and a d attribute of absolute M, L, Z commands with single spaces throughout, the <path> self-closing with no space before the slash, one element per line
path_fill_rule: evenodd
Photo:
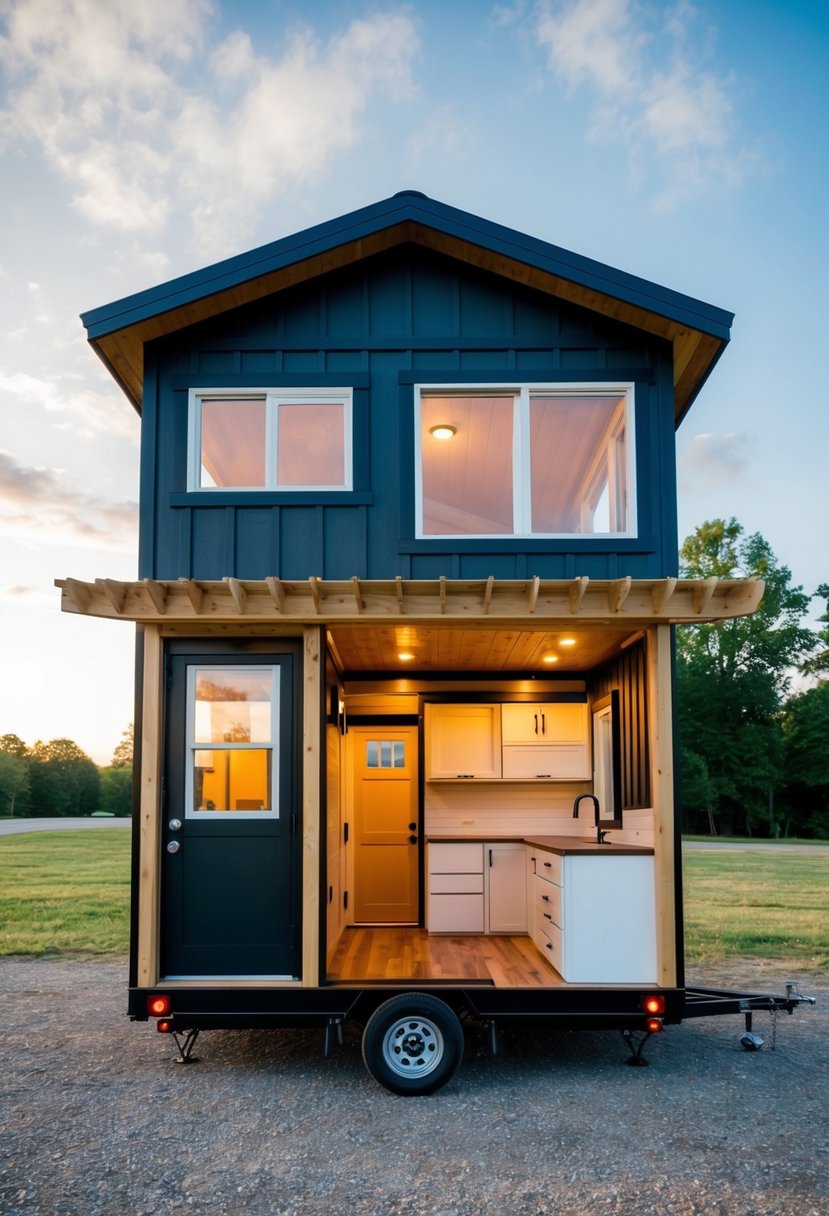
<path fill-rule="evenodd" d="M 423 535 L 513 534 L 514 410 L 512 393 L 423 396 Z"/>

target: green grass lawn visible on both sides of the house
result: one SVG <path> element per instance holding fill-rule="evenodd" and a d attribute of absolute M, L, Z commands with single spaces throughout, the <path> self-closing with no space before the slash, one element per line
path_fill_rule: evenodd
<path fill-rule="evenodd" d="M 0 955 L 122 955 L 129 948 L 130 833 L 0 838 Z M 829 969 L 829 857 L 687 852 L 686 956 L 769 958 Z"/>

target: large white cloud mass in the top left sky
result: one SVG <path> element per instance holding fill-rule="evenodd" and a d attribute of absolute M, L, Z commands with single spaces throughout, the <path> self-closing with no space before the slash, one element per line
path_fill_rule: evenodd
<path fill-rule="evenodd" d="M 266 199 L 353 146 L 371 97 L 411 91 L 418 40 L 393 11 L 325 43 L 301 28 L 278 58 L 239 30 L 210 50 L 210 13 L 207 0 L 18 0 L 0 129 L 43 148 L 91 224 L 146 240 L 182 209 L 220 255 Z"/>

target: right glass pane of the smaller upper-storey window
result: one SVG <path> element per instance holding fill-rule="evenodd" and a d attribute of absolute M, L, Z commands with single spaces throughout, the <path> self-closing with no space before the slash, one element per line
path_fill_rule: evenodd
<path fill-rule="evenodd" d="M 280 404 L 277 412 L 277 484 L 345 485 L 343 402 Z"/>

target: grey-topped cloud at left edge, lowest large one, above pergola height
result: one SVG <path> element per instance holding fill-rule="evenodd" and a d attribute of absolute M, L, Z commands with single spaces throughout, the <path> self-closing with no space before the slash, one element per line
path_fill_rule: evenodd
<path fill-rule="evenodd" d="M 109 502 L 66 482 L 56 469 L 22 465 L 0 451 L 0 531 L 66 546 L 135 545 L 136 502 Z"/>

